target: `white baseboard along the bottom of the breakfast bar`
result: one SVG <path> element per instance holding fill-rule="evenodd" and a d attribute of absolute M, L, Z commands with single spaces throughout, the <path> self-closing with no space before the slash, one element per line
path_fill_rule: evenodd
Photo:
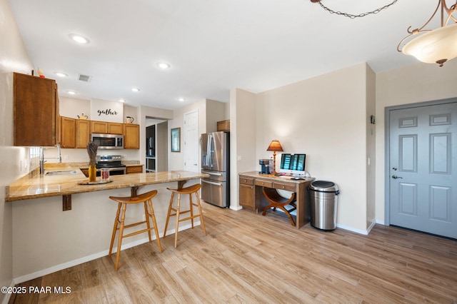
<path fill-rule="evenodd" d="M 200 221 L 194 222 L 194 226 L 199 226 L 199 225 L 200 225 Z M 179 231 L 186 230 L 191 227 L 192 227 L 191 224 L 180 226 Z M 175 231 L 176 231 L 176 229 L 167 230 L 166 235 L 174 234 Z M 152 240 L 156 240 L 155 233 L 151 233 L 151 238 L 152 238 Z M 141 245 L 141 244 L 148 243 L 148 242 L 149 242 L 149 238 L 142 238 L 141 240 L 135 240 L 134 242 L 122 243 L 121 250 L 132 248 L 137 245 Z M 117 252 L 117 248 L 114 247 L 112 253 L 116 253 L 116 252 Z M 76 266 L 76 265 L 79 265 L 82 263 L 86 263 L 86 262 L 89 262 L 90 260 L 95 260 L 97 258 L 104 257 L 104 256 L 108 255 L 108 253 L 109 253 L 109 250 L 104 250 L 104 251 L 101 251 L 100 253 L 94 253 L 92 255 L 87 255 L 83 258 L 78 258 L 76 260 L 70 260 L 69 262 L 66 262 L 66 263 L 61 263 L 59 265 L 54 265 L 54 266 L 46 268 L 46 269 L 38 270 L 34 273 L 29 273 L 27 275 L 21 275 L 20 277 L 13 279 L 12 286 L 19 284 L 19 283 L 24 283 L 28 280 L 33 280 L 35 278 L 42 277 L 44 275 L 49 275 L 50 273 L 55 273 L 56 271 L 59 271 L 59 270 L 64 270 L 66 268 L 70 268 L 70 267 L 73 267 L 73 266 Z M 8 303 L 8 301 L 6 301 L 6 303 Z"/>

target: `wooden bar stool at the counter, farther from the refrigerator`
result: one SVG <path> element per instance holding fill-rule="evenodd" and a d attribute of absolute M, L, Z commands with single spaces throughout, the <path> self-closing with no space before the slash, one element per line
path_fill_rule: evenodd
<path fill-rule="evenodd" d="M 162 252 L 162 247 L 160 245 L 160 238 L 159 232 L 157 231 L 157 223 L 156 223 L 156 216 L 154 216 L 154 209 L 152 208 L 152 198 L 156 196 L 157 191 L 149 191 L 137 196 L 127 196 L 127 197 L 118 197 L 118 196 L 110 196 L 111 200 L 118 202 L 117 206 L 117 213 L 116 218 L 114 219 L 114 227 L 113 227 L 113 235 L 111 236 L 111 245 L 109 246 L 109 256 L 111 256 L 111 251 L 113 250 L 114 238 L 116 236 L 116 231 L 119 230 L 118 242 L 117 242 L 117 253 L 116 253 L 116 270 L 119 265 L 119 255 L 121 255 L 121 244 L 123 238 L 128 238 L 132 235 L 137 235 L 139 233 L 147 232 L 149 236 L 149 242 L 151 242 L 151 230 L 155 230 L 156 238 L 157 238 L 157 245 L 159 245 L 159 251 Z M 131 223 L 129 225 L 124 224 L 124 220 L 126 218 L 126 208 L 129 204 L 134 203 L 144 203 L 144 215 L 146 216 L 146 221 L 141 221 L 137 223 Z M 148 210 L 149 205 L 149 210 Z M 122 211 L 121 211 L 122 208 Z M 120 219 L 119 219 L 120 216 Z M 149 218 L 152 218 L 153 226 L 149 224 Z M 133 233 L 129 233 L 124 235 L 124 228 L 134 227 L 141 224 L 146 223 L 146 229 L 139 230 Z"/>

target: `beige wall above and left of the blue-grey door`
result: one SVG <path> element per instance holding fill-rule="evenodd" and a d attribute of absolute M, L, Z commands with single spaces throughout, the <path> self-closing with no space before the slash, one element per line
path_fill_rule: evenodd
<path fill-rule="evenodd" d="M 438 64 L 414 64 L 376 75 L 376 221 L 385 218 L 386 166 L 384 111 L 388 106 L 398 106 L 421 101 L 436 101 L 457 96 L 457 59 Z"/>

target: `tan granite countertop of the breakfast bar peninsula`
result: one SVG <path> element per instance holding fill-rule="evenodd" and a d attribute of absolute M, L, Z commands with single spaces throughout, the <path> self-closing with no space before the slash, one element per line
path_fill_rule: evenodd
<path fill-rule="evenodd" d="M 139 164 L 136 164 L 136 166 L 138 165 Z M 169 183 L 173 181 L 189 181 L 192 179 L 209 177 L 208 174 L 190 171 L 163 171 L 110 176 L 109 179 L 112 181 L 111 183 L 79 185 L 78 182 L 88 181 L 88 178 L 86 178 L 84 173 L 82 173 L 79 169 L 83 167 L 51 166 L 51 168 L 46 168 L 45 172 L 71 170 L 76 171 L 76 173 L 55 176 L 29 174 L 19 178 L 17 181 L 14 181 L 14 183 L 6 186 L 5 201 L 21 201 L 31 198 L 66 196 L 75 193 L 129 188 L 157 183 Z M 97 181 L 99 181 L 99 179 L 100 178 L 98 177 Z"/>

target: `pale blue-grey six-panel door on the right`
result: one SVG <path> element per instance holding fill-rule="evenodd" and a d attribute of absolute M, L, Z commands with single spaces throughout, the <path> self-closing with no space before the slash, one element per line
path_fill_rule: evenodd
<path fill-rule="evenodd" d="M 457 238 L 457 103 L 390 112 L 390 223 Z"/>

